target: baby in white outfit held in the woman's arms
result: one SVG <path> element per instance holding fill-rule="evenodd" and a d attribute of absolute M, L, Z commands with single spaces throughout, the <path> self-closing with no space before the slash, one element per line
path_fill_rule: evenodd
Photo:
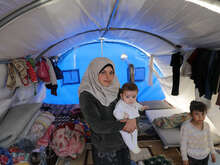
<path fill-rule="evenodd" d="M 137 103 L 136 98 L 138 94 L 138 88 L 134 83 L 125 83 L 120 91 L 120 100 L 116 104 L 113 112 L 117 120 L 122 119 L 134 119 L 139 117 L 138 110 L 145 110 L 148 106 L 143 106 Z M 125 144 L 129 150 L 137 154 L 141 151 L 137 144 L 137 129 L 132 133 L 120 131 Z"/>

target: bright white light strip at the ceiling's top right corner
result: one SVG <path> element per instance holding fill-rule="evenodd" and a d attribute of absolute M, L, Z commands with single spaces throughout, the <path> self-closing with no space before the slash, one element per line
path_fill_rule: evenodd
<path fill-rule="evenodd" d="M 220 6 L 217 5 L 217 1 L 216 1 L 216 4 L 215 3 L 209 3 L 209 2 L 204 1 L 204 0 L 186 0 L 186 1 L 195 3 L 197 5 L 205 7 L 209 10 L 214 11 L 214 12 L 220 13 Z"/>

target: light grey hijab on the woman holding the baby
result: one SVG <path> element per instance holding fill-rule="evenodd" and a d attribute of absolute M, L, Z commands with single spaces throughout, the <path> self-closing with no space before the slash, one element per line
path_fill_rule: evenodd
<path fill-rule="evenodd" d="M 79 87 L 79 95 L 83 91 L 91 93 L 96 99 L 98 99 L 103 105 L 108 106 L 112 101 L 114 101 L 118 96 L 119 91 L 119 81 L 116 75 L 109 87 L 102 86 L 98 81 L 99 72 L 107 64 L 111 64 L 115 71 L 115 66 L 111 60 L 106 57 L 95 58 L 87 68 L 82 82 Z"/>

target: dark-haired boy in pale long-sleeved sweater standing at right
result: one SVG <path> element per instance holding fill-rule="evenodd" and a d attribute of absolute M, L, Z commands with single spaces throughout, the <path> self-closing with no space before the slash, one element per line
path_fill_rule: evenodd
<path fill-rule="evenodd" d="M 207 107 L 199 101 L 190 103 L 192 119 L 181 126 L 181 155 L 183 165 L 208 165 L 209 154 L 216 162 L 215 150 L 211 139 L 210 128 L 205 117 Z"/>

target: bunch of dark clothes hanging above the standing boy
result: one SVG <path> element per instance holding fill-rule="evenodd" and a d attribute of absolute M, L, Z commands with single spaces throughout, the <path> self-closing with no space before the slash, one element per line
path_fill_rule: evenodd
<path fill-rule="evenodd" d="M 211 100 L 219 90 L 220 51 L 197 48 L 187 60 L 192 66 L 191 79 L 199 96 Z"/>

